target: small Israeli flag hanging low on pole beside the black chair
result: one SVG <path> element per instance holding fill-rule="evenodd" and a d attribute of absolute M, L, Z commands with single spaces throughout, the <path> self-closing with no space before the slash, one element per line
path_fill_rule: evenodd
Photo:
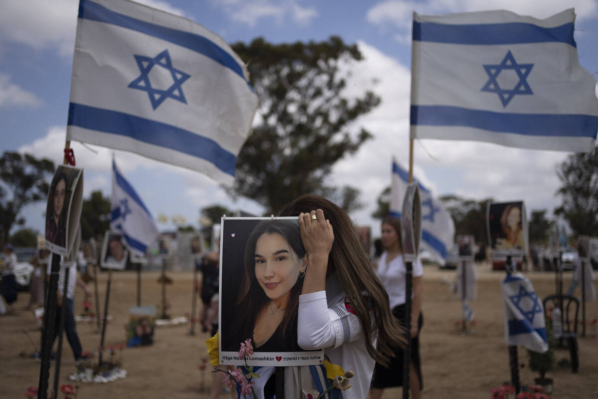
<path fill-rule="evenodd" d="M 544 307 L 532 282 L 521 273 L 502 282 L 505 303 L 505 340 L 509 346 L 523 345 L 531 351 L 548 351 Z"/>

